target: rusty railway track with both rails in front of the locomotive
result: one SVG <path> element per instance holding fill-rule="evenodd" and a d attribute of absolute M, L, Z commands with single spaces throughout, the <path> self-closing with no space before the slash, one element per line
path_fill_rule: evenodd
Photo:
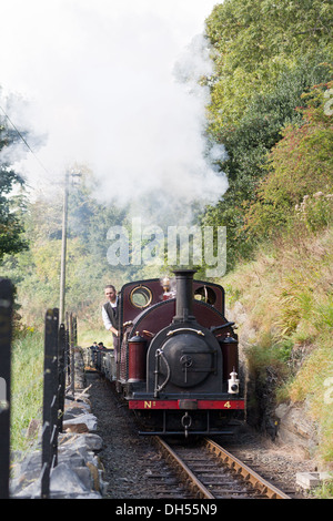
<path fill-rule="evenodd" d="M 186 446 L 155 440 L 195 498 L 291 499 L 212 440 Z"/>

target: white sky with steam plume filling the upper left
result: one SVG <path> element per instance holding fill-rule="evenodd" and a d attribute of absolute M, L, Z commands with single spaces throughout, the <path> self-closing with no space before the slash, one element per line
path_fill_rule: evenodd
<path fill-rule="evenodd" d="M 202 38 L 216 0 L 11 0 L 0 18 L 0 105 L 27 136 L 9 151 L 33 187 L 87 164 L 103 202 L 215 203 L 205 156 L 212 63 Z M 188 81 L 180 82 L 180 78 Z M 135 194 L 135 195 L 133 195 Z"/>

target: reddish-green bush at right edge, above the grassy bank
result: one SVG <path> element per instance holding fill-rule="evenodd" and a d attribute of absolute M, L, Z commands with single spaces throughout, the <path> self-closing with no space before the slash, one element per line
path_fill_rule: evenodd
<path fill-rule="evenodd" d="M 330 194 L 333 187 L 333 125 L 324 112 L 324 89 L 316 88 L 303 111 L 302 125 L 289 125 L 283 139 L 272 149 L 269 174 L 259 186 L 258 198 L 248 213 L 248 231 L 270 237 L 295 218 L 295 210 L 304 196 Z M 315 103 L 314 103 L 315 102 Z M 317 105 L 317 106 L 315 106 Z M 324 195 L 323 194 L 323 195 Z M 331 198 L 316 197 L 312 204 L 303 201 L 303 216 L 314 231 L 329 224 Z"/>

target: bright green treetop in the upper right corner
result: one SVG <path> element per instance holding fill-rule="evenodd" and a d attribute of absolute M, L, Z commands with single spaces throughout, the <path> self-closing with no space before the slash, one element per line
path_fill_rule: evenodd
<path fill-rule="evenodd" d="M 256 92 L 265 94 L 281 72 L 331 48 L 330 0 L 225 0 L 206 21 L 216 73 L 213 124 L 235 124 Z"/>

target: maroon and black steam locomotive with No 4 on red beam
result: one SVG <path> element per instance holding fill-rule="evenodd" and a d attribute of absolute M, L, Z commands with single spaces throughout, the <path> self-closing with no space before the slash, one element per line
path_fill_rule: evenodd
<path fill-rule="evenodd" d="M 194 273 L 129 283 L 119 295 L 115 370 L 108 355 L 100 366 L 144 435 L 225 433 L 243 419 L 238 336 L 224 316 L 224 290 L 194 280 Z"/>

